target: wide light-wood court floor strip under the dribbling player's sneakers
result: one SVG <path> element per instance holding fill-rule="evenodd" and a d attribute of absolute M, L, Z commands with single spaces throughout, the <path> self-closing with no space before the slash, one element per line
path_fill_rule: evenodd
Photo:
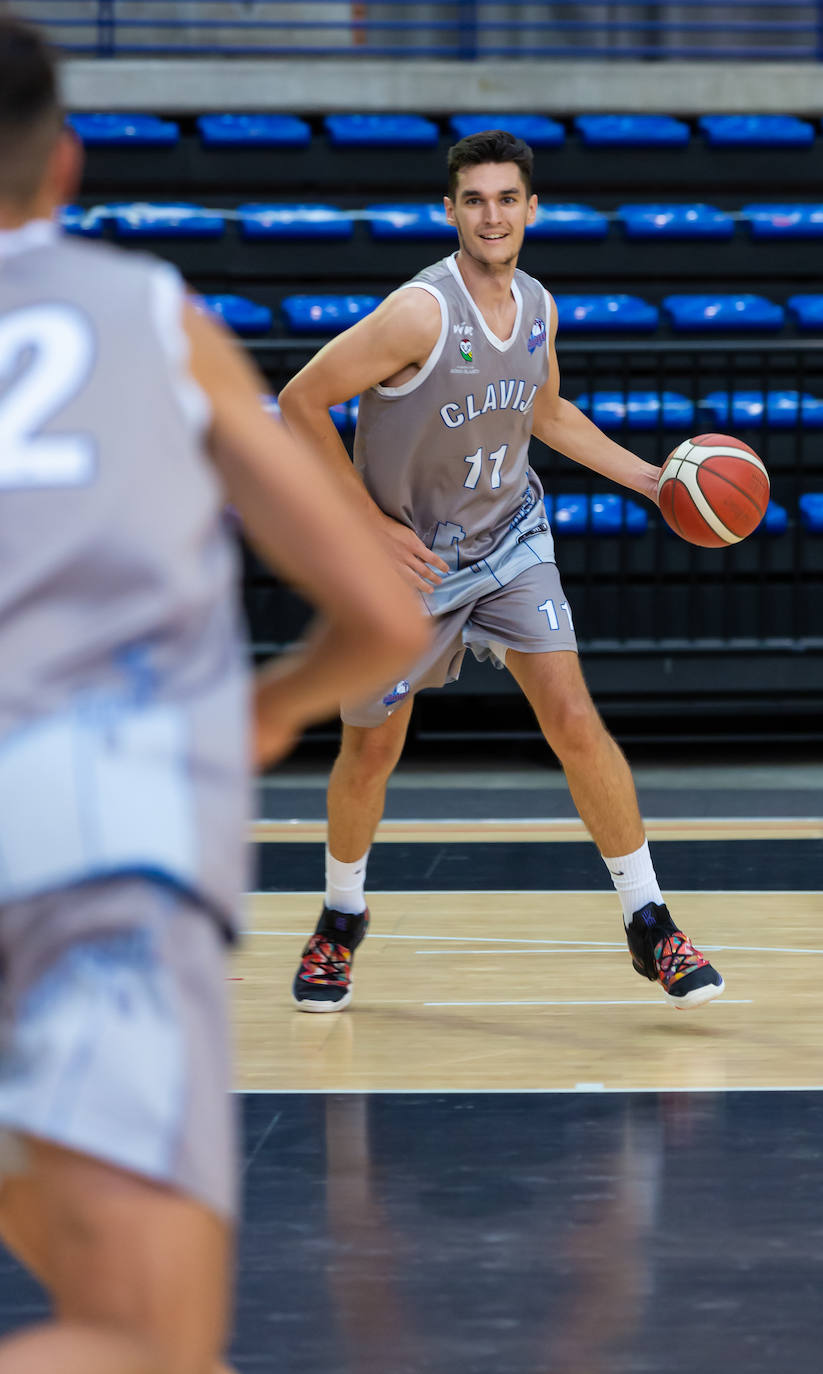
<path fill-rule="evenodd" d="M 501 842 L 506 842 L 504 840 Z M 676 1011 L 607 892 L 383 892 L 350 1007 L 294 1009 L 315 893 L 261 893 L 232 991 L 243 1091 L 610 1091 L 823 1084 L 822 897 L 668 893 L 725 978 Z"/>

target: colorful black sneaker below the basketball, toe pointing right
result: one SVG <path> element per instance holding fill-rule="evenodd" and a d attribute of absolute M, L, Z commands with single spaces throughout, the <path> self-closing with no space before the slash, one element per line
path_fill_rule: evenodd
<path fill-rule="evenodd" d="M 723 992 L 723 978 L 691 940 L 677 930 L 668 907 L 657 901 L 640 907 L 625 937 L 638 973 L 659 982 L 672 1006 L 686 1011 Z"/>

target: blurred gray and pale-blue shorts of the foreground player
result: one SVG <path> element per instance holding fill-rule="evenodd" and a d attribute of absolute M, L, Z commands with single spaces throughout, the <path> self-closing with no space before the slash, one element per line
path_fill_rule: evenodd
<path fill-rule="evenodd" d="M 25 1168 L 26 1134 L 232 1219 L 227 954 L 214 919 L 148 879 L 63 888 L 0 908 L 0 967 L 5 1172 Z"/>

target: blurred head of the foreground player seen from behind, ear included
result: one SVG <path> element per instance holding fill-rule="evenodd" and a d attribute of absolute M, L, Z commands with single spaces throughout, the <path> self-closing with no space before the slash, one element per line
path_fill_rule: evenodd
<path fill-rule="evenodd" d="M 74 190 L 80 154 L 63 129 L 56 63 L 40 34 L 0 18 L 0 212 L 48 216 Z"/>

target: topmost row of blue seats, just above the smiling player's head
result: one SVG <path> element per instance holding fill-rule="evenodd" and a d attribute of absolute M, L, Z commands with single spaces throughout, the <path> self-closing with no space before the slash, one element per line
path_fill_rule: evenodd
<path fill-rule="evenodd" d="M 173 120 L 151 114 L 70 114 L 69 122 L 88 147 L 172 147 L 180 139 Z M 308 147 L 311 125 L 291 114 L 205 114 L 198 122 L 205 147 Z M 323 121 L 334 147 L 434 147 L 440 126 L 419 114 L 331 114 Z M 566 129 L 540 114 L 458 114 L 448 122 L 456 139 L 482 129 L 508 129 L 532 147 L 558 147 Z M 815 142 L 808 120 L 780 114 L 703 115 L 698 128 L 710 147 L 805 148 Z M 574 129 L 587 147 L 684 147 L 691 129 L 659 114 L 584 114 Z"/>

